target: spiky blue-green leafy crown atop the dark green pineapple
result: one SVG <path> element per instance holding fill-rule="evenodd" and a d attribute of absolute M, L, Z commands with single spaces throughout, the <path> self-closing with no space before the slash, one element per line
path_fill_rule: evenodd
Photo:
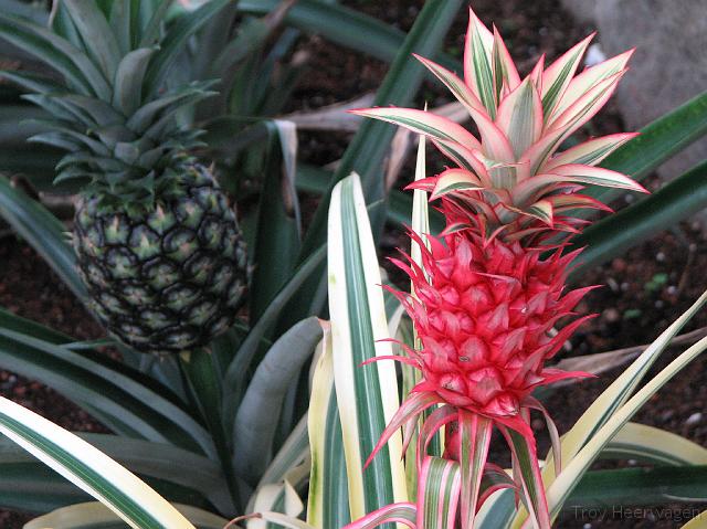
<path fill-rule="evenodd" d="M 170 0 L 55 0 L 49 28 L 0 13 L 0 38 L 59 74 L 0 72 L 51 114 L 31 140 L 68 151 L 55 181 L 87 180 L 84 192 L 102 207 L 130 209 L 179 188 L 200 131 L 176 114 L 214 92 L 213 82 L 168 87 L 167 76 L 187 39 L 226 3 L 208 2 L 167 30 Z"/>

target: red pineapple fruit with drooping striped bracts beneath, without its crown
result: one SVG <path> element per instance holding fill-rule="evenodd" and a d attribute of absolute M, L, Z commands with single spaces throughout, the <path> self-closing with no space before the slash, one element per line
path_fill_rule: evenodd
<path fill-rule="evenodd" d="M 488 237 L 474 228 L 457 229 L 441 239 L 411 237 L 421 248 L 420 263 L 393 260 L 410 276 L 412 295 L 389 288 L 414 322 L 421 347 L 404 348 L 399 360 L 419 369 L 421 381 L 403 401 L 383 432 L 369 462 L 404 426 L 404 446 L 418 420 L 431 410 L 418 437 L 418 467 L 428 457 L 433 435 L 446 427 L 444 457 L 458 461 L 463 475 L 460 506 L 462 527 L 472 528 L 481 490 L 490 432 L 498 429 L 518 461 L 518 438 L 529 454 L 530 475 L 514 474 L 511 486 L 534 487 L 536 517 L 549 527 L 541 489 L 530 411 L 541 411 L 559 465 L 559 437 L 547 411 L 531 396 L 535 389 L 561 379 L 585 377 L 548 368 L 571 334 L 591 316 L 572 311 L 593 287 L 569 290 L 566 279 L 579 251 L 527 247 L 518 240 Z M 560 327 L 556 331 L 556 327 Z M 378 358 L 382 359 L 382 358 Z M 465 465 L 478 467 L 468 473 Z M 529 482 L 534 482 L 529 484 Z"/>

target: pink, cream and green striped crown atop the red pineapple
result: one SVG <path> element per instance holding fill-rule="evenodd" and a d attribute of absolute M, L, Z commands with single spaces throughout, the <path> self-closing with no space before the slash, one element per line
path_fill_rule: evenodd
<path fill-rule="evenodd" d="M 485 235 L 536 244 L 557 232 L 577 232 L 584 221 L 564 214 L 579 208 L 606 209 L 579 193 L 585 186 L 645 189 L 625 174 L 595 167 L 635 134 L 593 138 L 556 155 L 613 94 L 633 51 L 574 76 L 592 35 L 547 68 L 545 55 L 520 78 L 496 28 L 489 31 L 469 10 L 464 78 L 418 56 L 466 108 L 479 138 L 461 125 L 425 110 L 367 108 L 355 114 L 382 119 L 432 139 L 454 168 L 413 187 L 443 198 L 454 224 Z M 553 156 L 555 155 L 555 156 Z"/>

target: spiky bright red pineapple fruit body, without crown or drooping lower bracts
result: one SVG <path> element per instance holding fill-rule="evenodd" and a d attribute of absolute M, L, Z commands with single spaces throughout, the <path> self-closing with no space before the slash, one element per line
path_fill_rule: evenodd
<path fill-rule="evenodd" d="M 423 377 L 414 391 L 488 417 L 515 417 L 535 388 L 578 375 L 545 367 L 588 318 L 551 335 L 591 288 L 566 292 L 576 253 L 542 258 L 538 248 L 471 230 L 446 235 L 445 244 L 429 241 L 422 267 L 397 261 L 416 296 L 397 293 L 423 346 L 411 352 Z"/>

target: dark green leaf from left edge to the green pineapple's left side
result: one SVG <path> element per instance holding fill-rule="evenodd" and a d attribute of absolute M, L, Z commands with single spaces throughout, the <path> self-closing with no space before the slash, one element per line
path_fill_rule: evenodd
<path fill-rule="evenodd" d="M 43 205 L 14 189 L 0 174 L 0 215 L 44 258 L 82 300 L 86 287 L 78 276 L 76 256 L 66 244 L 64 225 Z"/>

